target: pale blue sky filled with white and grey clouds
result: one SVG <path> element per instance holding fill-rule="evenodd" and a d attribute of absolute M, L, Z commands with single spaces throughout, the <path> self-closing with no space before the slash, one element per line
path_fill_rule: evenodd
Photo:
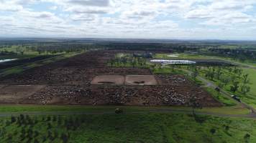
<path fill-rule="evenodd" d="M 256 40 L 256 0 L 0 0 L 0 36 Z"/>

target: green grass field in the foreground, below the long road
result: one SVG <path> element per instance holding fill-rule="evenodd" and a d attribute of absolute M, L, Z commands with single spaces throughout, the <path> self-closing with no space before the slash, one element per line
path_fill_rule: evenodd
<path fill-rule="evenodd" d="M 0 142 L 256 142 L 254 119 L 156 113 L 18 117 L 0 118 Z"/>

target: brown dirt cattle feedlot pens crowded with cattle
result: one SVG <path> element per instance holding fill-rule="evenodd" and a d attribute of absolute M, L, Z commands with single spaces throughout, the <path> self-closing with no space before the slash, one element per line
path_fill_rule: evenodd
<path fill-rule="evenodd" d="M 107 61 L 120 52 L 126 51 L 90 51 L 1 78 L 0 103 L 187 106 L 189 99 L 194 96 L 205 107 L 221 106 L 210 94 L 180 75 L 155 75 L 159 85 L 153 86 L 91 84 L 93 77 L 99 75 L 152 75 L 150 69 L 106 66 Z M 153 80 L 141 78 L 130 81 L 139 83 Z"/>

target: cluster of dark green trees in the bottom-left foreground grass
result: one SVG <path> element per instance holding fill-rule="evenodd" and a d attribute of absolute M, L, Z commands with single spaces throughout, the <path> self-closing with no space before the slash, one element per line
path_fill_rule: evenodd
<path fill-rule="evenodd" d="M 63 122 L 63 120 L 65 122 Z M 78 119 L 62 119 L 60 116 L 44 116 L 39 120 L 37 117 L 29 117 L 29 115 L 25 116 L 24 114 L 20 114 L 19 117 L 11 117 L 11 119 L 6 120 L 6 127 L 9 127 L 10 125 L 17 125 L 17 127 L 21 127 L 21 129 L 17 128 L 17 130 L 20 132 L 17 132 L 17 130 L 14 130 L 14 132 L 7 132 L 6 127 L 4 127 L 0 129 L 0 137 L 6 137 L 7 142 L 17 140 L 17 138 L 14 138 L 14 136 L 17 137 L 17 135 L 19 137 L 19 142 L 52 142 L 55 139 L 60 139 L 63 141 L 63 143 L 68 142 L 70 134 L 66 132 L 59 132 L 57 129 L 55 129 L 53 127 L 55 122 L 58 124 L 58 127 L 65 126 L 67 129 L 75 126 L 77 129 L 80 125 L 79 123 L 81 123 L 78 121 Z M 39 130 L 35 129 L 35 125 L 39 123 L 47 124 L 47 134 L 40 134 Z"/>

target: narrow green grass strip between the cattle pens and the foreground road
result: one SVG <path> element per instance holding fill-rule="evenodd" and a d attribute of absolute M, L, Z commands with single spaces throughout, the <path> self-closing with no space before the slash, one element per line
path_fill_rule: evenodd
<path fill-rule="evenodd" d="M 121 108 L 124 112 L 159 112 L 170 111 L 170 112 L 191 112 L 191 107 L 136 107 L 136 106 L 58 106 L 58 105 L 1 105 L 0 112 L 3 114 L 8 113 L 92 113 L 92 112 L 114 112 L 114 109 Z M 201 113 L 213 113 L 213 114 L 249 114 L 250 110 L 242 108 L 240 106 L 229 106 L 229 107 L 205 107 L 203 109 L 196 109 L 196 112 Z"/>

